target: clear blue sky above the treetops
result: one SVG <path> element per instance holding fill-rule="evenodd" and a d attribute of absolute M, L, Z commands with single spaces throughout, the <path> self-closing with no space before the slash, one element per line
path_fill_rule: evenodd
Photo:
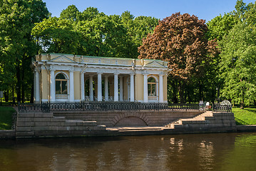
<path fill-rule="evenodd" d="M 153 16 L 164 19 L 175 12 L 188 13 L 205 19 L 206 22 L 215 16 L 235 9 L 237 0 L 43 0 L 52 16 L 59 16 L 63 9 L 75 5 L 79 11 L 92 6 L 107 15 L 121 15 L 123 11 L 130 11 L 133 16 Z M 245 3 L 254 2 L 244 0 Z"/>

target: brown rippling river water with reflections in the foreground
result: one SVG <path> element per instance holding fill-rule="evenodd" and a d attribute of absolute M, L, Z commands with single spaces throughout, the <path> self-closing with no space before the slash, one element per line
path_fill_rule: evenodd
<path fill-rule="evenodd" d="M 0 170 L 256 170 L 256 133 L 0 140 Z"/>

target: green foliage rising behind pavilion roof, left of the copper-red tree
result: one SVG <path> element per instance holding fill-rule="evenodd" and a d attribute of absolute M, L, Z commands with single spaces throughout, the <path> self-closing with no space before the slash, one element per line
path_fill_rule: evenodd
<path fill-rule="evenodd" d="M 153 31 L 157 22 L 146 16 L 134 19 L 128 11 L 122 16 L 107 16 L 93 7 L 80 12 L 72 5 L 60 18 L 36 24 L 32 36 L 41 46 L 40 52 L 137 58 L 141 38 Z"/>

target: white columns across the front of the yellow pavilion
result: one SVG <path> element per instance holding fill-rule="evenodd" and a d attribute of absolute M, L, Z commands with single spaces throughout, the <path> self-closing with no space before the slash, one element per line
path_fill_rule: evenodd
<path fill-rule="evenodd" d="M 55 102 L 56 101 L 56 85 L 55 85 L 55 74 L 54 70 L 50 70 L 50 101 Z M 98 87 L 97 87 L 97 100 L 102 101 L 102 74 L 101 72 L 97 73 L 98 78 Z M 120 73 L 113 73 L 114 75 L 114 101 L 123 101 L 123 76 L 118 76 Z M 130 93 L 130 102 L 135 101 L 135 87 L 134 87 L 134 73 L 130 73 L 130 90 L 128 92 Z M 158 83 L 159 83 L 159 93 L 158 93 L 158 101 L 159 103 L 163 103 L 163 74 L 158 75 Z M 39 102 L 40 99 L 40 84 L 39 84 L 39 71 L 35 70 L 35 101 Z M 104 98 L 106 101 L 109 100 L 108 97 L 108 76 L 104 76 Z M 120 83 L 120 93 L 118 93 L 118 78 Z M 69 81 L 68 81 L 68 90 L 69 90 L 69 101 L 74 102 L 74 81 L 73 81 L 73 71 L 69 71 Z M 81 73 L 81 100 L 85 100 L 85 85 L 84 85 L 85 79 L 84 79 L 84 73 Z M 93 75 L 89 75 L 89 100 L 93 101 Z M 148 74 L 143 74 L 143 103 L 148 103 Z"/>

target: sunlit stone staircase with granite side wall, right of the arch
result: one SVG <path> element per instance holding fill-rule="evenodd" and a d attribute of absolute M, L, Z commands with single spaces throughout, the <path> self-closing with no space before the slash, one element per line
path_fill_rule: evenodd
<path fill-rule="evenodd" d="M 179 129 L 179 128 L 191 128 L 191 129 L 208 129 L 208 128 L 236 128 L 235 117 L 233 113 L 213 113 L 212 111 L 206 111 L 201 115 L 197 115 L 194 118 L 180 119 L 173 123 L 165 125 L 165 128 Z"/>

